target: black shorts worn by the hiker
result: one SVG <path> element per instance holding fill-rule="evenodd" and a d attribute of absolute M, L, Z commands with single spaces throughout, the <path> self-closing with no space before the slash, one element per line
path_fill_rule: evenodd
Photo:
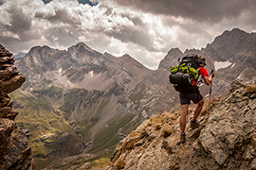
<path fill-rule="evenodd" d="M 197 93 L 179 93 L 180 105 L 191 104 L 191 100 L 194 104 L 203 99 L 203 96 L 198 91 Z"/>

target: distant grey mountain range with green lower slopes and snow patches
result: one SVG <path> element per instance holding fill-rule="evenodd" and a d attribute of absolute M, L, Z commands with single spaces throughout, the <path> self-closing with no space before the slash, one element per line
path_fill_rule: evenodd
<path fill-rule="evenodd" d="M 144 120 L 178 107 L 169 68 L 191 53 L 215 70 L 213 94 L 225 93 L 246 68 L 255 70 L 256 34 L 225 31 L 206 48 L 182 53 L 172 48 L 153 71 L 129 55 L 101 54 L 80 42 L 67 50 L 35 46 L 16 60 L 27 77 L 11 93 L 16 122 L 30 131 L 37 164 L 81 153 L 111 153 Z M 209 88 L 201 87 L 204 95 Z"/>

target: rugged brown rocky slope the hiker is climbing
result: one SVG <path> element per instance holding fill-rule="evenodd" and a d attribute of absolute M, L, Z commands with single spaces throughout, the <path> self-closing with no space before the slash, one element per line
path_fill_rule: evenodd
<path fill-rule="evenodd" d="M 255 113 L 255 70 L 246 70 L 203 110 L 201 127 L 187 125 L 185 144 L 178 143 L 179 110 L 166 112 L 124 138 L 107 169 L 256 169 Z"/>

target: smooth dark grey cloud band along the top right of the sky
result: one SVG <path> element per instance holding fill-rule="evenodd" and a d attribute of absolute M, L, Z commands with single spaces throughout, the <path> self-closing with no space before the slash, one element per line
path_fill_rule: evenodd
<path fill-rule="evenodd" d="M 245 10 L 254 11 L 254 0 L 114 0 L 119 5 L 144 12 L 185 17 L 197 21 L 220 22 L 224 17 L 238 17 Z M 255 21 L 254 21 L 255 23 Z"/>

